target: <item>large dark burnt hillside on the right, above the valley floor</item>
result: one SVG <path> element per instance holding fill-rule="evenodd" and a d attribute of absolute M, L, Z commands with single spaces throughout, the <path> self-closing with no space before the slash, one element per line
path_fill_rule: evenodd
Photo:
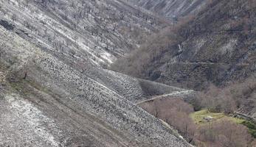
<path fill-rule="evenodd" d="M 113 67 L 196 90 L 210 82 L 221 86 L 244 79 L 256 69 L 255 13 L 253 0 L 212 1 Z"/>

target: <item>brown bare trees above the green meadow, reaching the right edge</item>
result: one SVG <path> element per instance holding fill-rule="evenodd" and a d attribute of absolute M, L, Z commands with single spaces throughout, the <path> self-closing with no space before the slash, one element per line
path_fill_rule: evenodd
<path fill-rule="evenodd" d="M 244 113 L 256 112 L 256 79 L 249 77 L 243 82 L 232 82 L 226 87 L 210 85 L 199 94 L 193 103 L 196 110 L 202 107 L 210 112 L 224 112 L 231 114 L 235 111 Z"/>

